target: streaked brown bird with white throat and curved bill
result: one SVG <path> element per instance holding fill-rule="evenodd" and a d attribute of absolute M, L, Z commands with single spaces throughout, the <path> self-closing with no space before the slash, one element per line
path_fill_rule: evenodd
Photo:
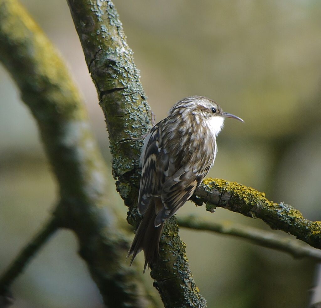
<path fill-rule="evenodd" d="M 157 260 L 164 223 L 193 195 L 213 166 L 216 137 L 225 118 L 244 122 L 207 97 L 189 96 L 178 101 L 145 137 L 137 204 L 143 218 L 128 251 L 130 265 L 142 250 L 143 272 Z"/>

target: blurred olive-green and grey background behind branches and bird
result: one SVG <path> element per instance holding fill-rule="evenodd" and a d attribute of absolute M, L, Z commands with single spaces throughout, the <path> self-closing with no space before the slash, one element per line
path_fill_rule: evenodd
<path fill-rule="evenodd" d="M 65 58 L 110 169 L 103 114 L 66 2 L 22 3 Z M 156 120 L 183 97 L 216 100 L 245 124 L 225 121 L 209 175 L 252 186 L 321 220 L 321 2 L 115 0 L 115 5 Z M 0 92 L 2 271 L 44 223 L 57 197 L 35 122 L 1 66 Z M 111 201 L 125 217 L 107 176 Z M 178 215 L 192 213 L 269 229 L 259 220 L 221 208 L 210 214 L 191 203 Z M 308 305 L 317 278 L 312 261 L 218 234 L 180 234 L 208 307 Z M 67 231 L 45 245 L 12 291 L 13 307 L 103 306 Z"/>

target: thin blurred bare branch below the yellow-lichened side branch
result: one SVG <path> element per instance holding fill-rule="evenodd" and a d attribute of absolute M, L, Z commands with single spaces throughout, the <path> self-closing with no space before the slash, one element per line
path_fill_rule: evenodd
<path fill-rule="evenodd" d="M 317 262 L 321 261 L 321 251 L 290 237 L 281 236 L 273 232 L 249 227 L 232 222 L 214 223 L 204 221 L 195 216 L 177 217 L 178 225 L 193 230 L 212 231 L 225 235 L 244 238 L 250 242 L 291 254 L 294 258 L 308 257 Z"/>

